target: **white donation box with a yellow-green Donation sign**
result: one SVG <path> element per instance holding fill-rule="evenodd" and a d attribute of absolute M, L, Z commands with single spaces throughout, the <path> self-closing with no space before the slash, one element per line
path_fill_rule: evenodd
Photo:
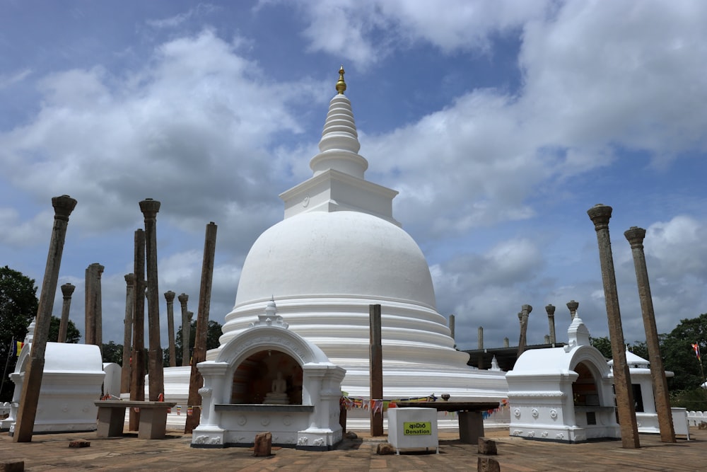
<path fill-rule="evenodd" d="M 436 408 L 389 408 L 388 442 L 400 449 L 424 447 L 435 448 L 439 454 Z"/>

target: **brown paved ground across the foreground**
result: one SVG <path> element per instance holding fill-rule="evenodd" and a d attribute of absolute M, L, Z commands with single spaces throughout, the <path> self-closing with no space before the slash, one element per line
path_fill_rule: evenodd
<path fill-rule="evenodd" d="M 508 430 L 487 432 L 498 442 L 503 472 L 530 471 L 705 471 L 707 431 L 690 429 L 692 441 L 664 444 L 658 435 L 641 434 L 641 449 L 622 449 L 621 442 L 556 444 L 508 437 Z M 411 451 L 378 456 L 374 440 L 346 440 L 329 452 L 275 449 L 267 458 L 253 457 L 246 448 L 192 449 L 190 435 L 168 432 L 165 439 L 97 439 L 95 433 L 41 434 L 30 443 L 13 443 L 0 433 L 0 463 L 25 461 L 25 471 L 476 471 L 477 447 L 462 444 L 455 433 L 440 433 L 440 454 Z M 90 447 L 69 448 L 86 439 Z"/>

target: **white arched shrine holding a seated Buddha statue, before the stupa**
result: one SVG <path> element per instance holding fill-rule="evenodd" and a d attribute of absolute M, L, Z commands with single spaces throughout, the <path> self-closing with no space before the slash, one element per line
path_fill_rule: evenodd
<path fill-rule="evenodd" d="M 327 451 L 341 442 L 341 381 L 346 371 L 288 330 L 274 301 L 252 326 L 199 362 L 201 423 L 192 447 L 249 446 L 259 432 L 272 444 Z"/>

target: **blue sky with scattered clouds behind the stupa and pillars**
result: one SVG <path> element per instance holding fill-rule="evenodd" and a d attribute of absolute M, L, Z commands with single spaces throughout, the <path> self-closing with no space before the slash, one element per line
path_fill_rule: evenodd
<path fill-rule="evenodd" d="M 153 198 L 160 293 L 189 294 L 194 313 L 218 225 L 223 323 L 278 195 L 312 175 L 344 64 L 366 180 L 399 191 L 394 217 L 458 348 L 477 348 L 479 326 L 484 347 L 517 345 L 523 304 L 529 344 L 549 333 L 547 304 L 567 340 L 570 300 L 608 335 L 597 203 L 614 209 L 626 342 L 645 340 L 631 226 L 647 230 L 668 333 L 707 311 L 706 24 L 699 0 L 0 0 L 0 265 L 40 287 L 51 199 L 76 198 L 59 285 L 76 285 L 83 333 L 86 267 L 104 265 L 103 340 L 122 344 Z M 160 316 L 166 347 L 162 297 Z"/>

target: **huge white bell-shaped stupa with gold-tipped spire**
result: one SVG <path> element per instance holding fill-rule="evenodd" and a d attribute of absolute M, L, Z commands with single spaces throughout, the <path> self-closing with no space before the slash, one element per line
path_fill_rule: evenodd
<path fill-rule="evenodd" d="M 369 304 L 380 304 L 385 398 L 505 398 L 504 372 L 469 367 L 455 350 L 427 261 L 392 216 L 397 192 L 364 179 L 343 67 L 339 74 L 312 178 L 280 195 L 284 220 L 250 249 L 221 346 L 274 297 L 289 329 L 346 369 L 344 391 L 367 398 Z"/>

